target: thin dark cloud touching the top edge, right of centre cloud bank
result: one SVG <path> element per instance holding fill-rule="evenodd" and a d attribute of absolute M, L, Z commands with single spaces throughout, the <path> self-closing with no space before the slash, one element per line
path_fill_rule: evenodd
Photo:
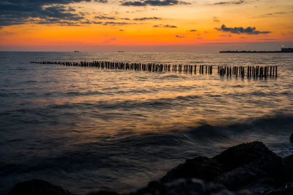
<path fill-rule="evenodd" d="M 123 6 L 171 6 L 171 5 L 188 5 L 191 4 L 179 0 L 141 0 L 141 1 L 126 1 L 121 5 Z"/>

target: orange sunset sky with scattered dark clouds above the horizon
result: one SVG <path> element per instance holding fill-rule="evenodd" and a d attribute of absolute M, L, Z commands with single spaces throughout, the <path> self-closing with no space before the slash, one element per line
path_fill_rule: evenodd
<path fill-rule="evenodd" d="M 293 47 L 293 0 L 1 0 L 0 51 Z"/>

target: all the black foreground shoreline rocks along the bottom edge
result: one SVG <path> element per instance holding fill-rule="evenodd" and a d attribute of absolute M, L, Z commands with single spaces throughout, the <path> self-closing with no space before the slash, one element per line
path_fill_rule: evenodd
<path fill-rule="evenodd" d="M 33 179 L 16 184 L 8 195 L 73 194 Z M 119 192 L 87 195 L 119 195 Z M 129 195 L 293 195 L 293 155 L 281 158 L 262 142 L 243 143 L 212 158 L 187 159 L 166 176 Z"/>

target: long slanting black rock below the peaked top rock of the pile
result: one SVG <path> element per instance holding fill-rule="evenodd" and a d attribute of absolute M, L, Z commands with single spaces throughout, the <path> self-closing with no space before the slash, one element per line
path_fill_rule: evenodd
<path fill-rule="evenodd" d="M 218 176 L 215 178 L 215 182 L 225 185 L 230 190 L 235 190 L 247 186 L 260 178 L 275 178 L 279 175 L 281 167 L 281 157 L 275 154 L 265 156 Z"/>

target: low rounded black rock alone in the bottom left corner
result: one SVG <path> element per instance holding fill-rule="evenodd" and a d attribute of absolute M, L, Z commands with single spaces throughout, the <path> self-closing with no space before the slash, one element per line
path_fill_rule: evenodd
<path fill-rule="evenodd" d="M 70 195 L 70 193 L 47 181 L 33 179 L 16 184 L 7 195 Z"/>

